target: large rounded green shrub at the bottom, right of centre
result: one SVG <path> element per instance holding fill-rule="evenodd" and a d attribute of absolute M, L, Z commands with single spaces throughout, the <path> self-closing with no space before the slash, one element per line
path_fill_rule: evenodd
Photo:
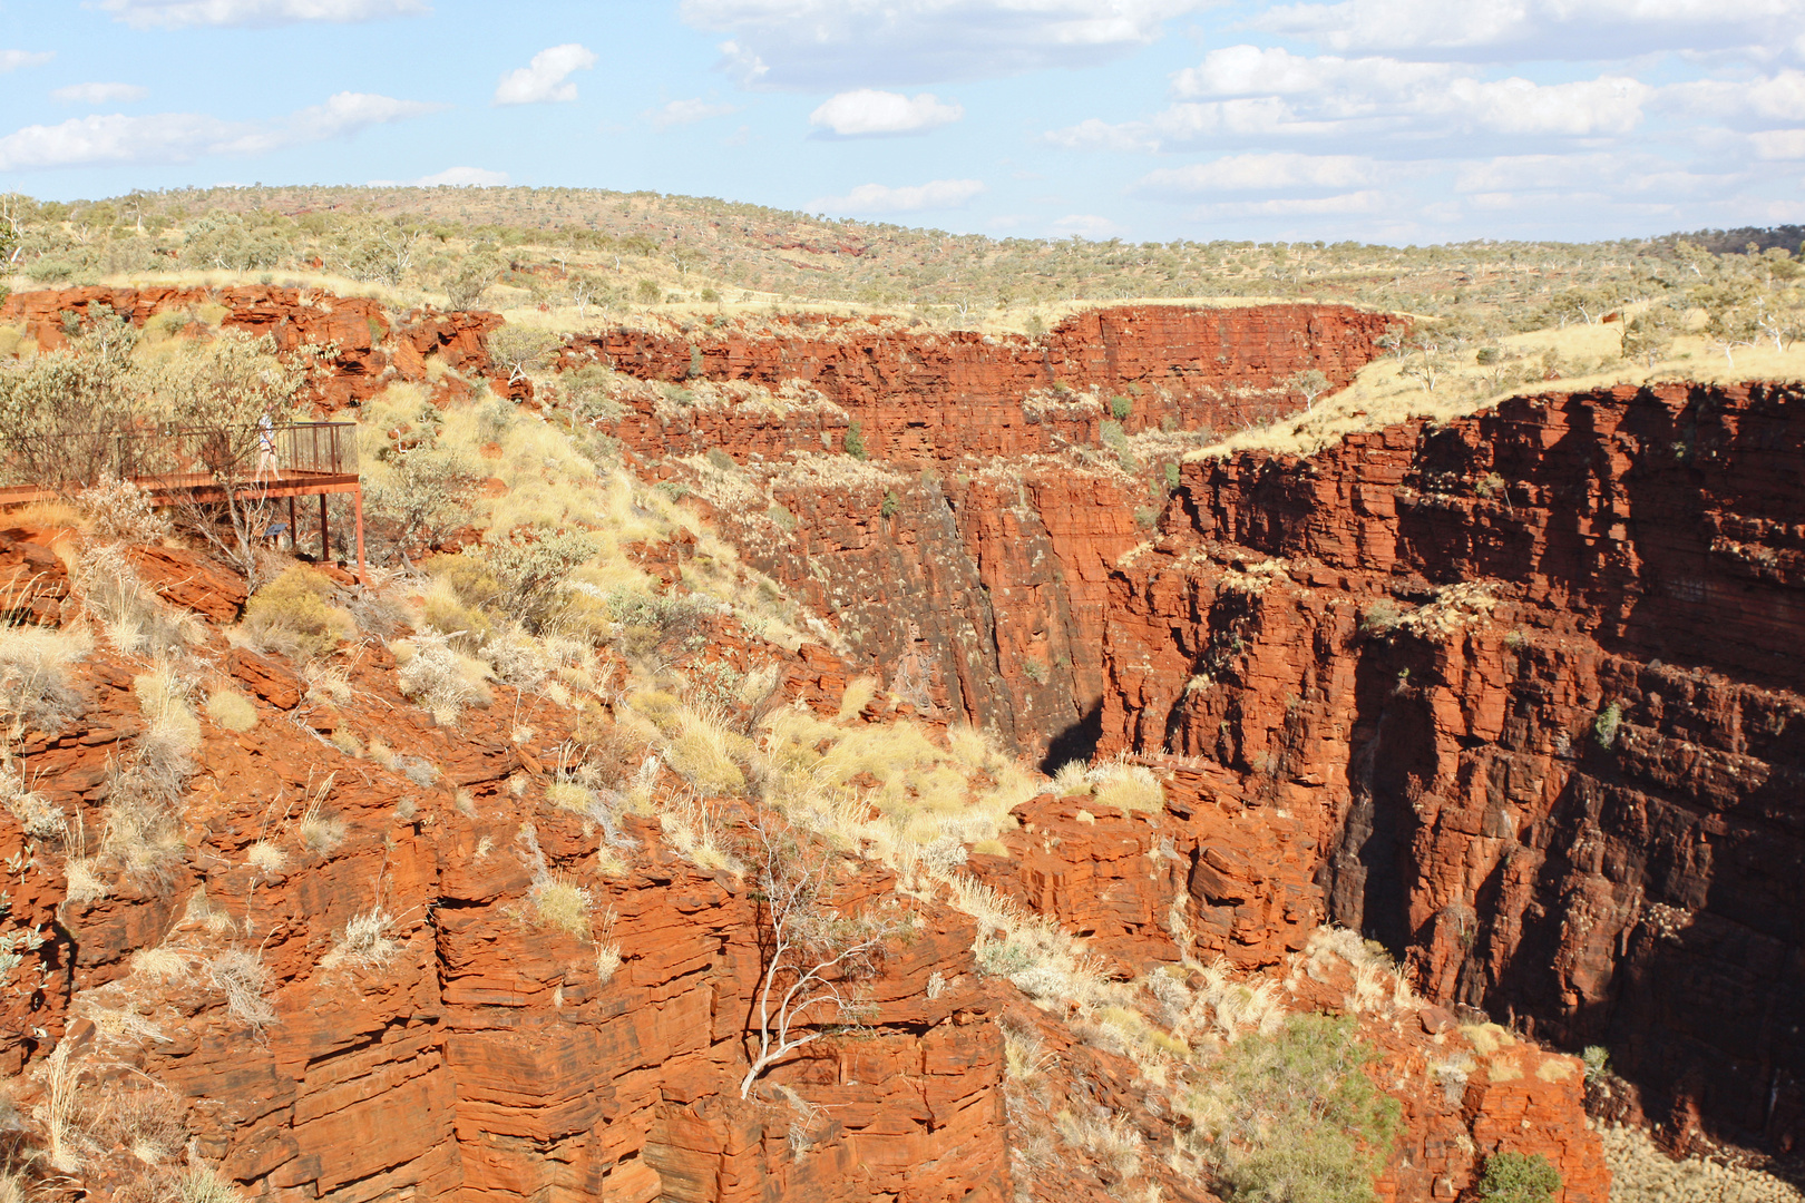
<path fill-rule="evenodd" d="M 1375 1059 L 1348 1017 L 1291 1015 L 1229 1044 L 1211 1086 L 1222 1198 L 1370 1203 L 1402 1116 L 1366 1077 Z"/>

